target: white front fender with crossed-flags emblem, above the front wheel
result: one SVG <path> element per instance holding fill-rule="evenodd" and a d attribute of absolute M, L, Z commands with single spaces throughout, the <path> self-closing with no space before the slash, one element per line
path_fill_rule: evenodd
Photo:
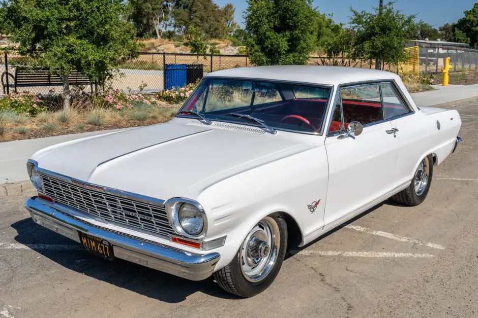
<path fill-rule="evenodd" d="M 216 270 L 233 259 L 252 227 L 267 215 L 287 213 L 303 237 L 323 227 L 327 181 L 327 157 L 320 146 L 203 189 L 197 200 L 206 211 L 207 239 L 227 235 Z M 308 205 L 318 200 L 320 204 L 311 212 Z"/>

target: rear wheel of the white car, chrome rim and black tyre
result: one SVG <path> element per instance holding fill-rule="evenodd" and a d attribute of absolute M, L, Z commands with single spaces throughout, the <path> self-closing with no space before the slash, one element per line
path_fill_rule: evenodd
<path fill-rule="evenodd" d="M 408 188 L 392 197 L 397 202 L 415 206 L 419 205 L 428 195 L 433 177 L 433 157 L 428 155 L 416 168 L 413 180 Z"/>

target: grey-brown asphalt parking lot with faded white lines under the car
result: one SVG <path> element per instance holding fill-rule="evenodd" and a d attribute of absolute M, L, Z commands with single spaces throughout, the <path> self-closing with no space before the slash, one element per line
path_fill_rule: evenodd
<path fill-rule="evenodd" d="M 212 279 L 99 259 L 34 224 L 28 193 L 0 196 L 0 317 L 478 316 L 477 105 L 449 106 L 464 142 L 435 169 L 422 205 L 375 206 L 293 252 L 250 299 Z"/>

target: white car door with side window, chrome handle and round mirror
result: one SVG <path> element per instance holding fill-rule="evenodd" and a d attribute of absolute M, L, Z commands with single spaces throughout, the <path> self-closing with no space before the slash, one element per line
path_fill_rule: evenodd
<path fill-rule="evenodd" d="M 328 191 L 324 224 L 334 225 L 348 214 L 394 188 L 399 142 L 392 123 L 383 117 L 380 85 L 340 88 L 325 138 Z M 348 123 L 358 121 L 363 132 L 344 137 Z"/>

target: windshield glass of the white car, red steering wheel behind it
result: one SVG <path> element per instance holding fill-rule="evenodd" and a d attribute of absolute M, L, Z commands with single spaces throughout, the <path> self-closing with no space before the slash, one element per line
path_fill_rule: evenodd
<path fill-rule="evenodd" d="M 297 132 L 320 132 L 331 88 L 240 79 L 204 79 L 178 113 Z M 232 114 L 232 115 L 231 115 Z M 200 119 L 200 118 L 199 118 Z"/>

